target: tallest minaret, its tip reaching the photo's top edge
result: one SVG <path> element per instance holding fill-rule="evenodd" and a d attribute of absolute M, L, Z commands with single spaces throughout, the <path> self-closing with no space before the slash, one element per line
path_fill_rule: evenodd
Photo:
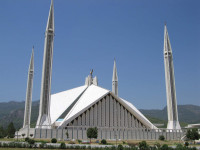
<path fill-rule="evenodd" d="M 42 70 L 42 83 L 40 95 L 40 109 L 36 128 L 51 128 L 50 101 L 51 101 L 51 75 L 53 61 L 54 41 L 54 8 L 51 1 L 49 17 L 45 32 L 44 57 Z"/>

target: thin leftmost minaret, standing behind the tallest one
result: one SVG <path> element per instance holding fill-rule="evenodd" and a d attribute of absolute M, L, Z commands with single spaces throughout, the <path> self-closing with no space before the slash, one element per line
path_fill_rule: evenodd
<path fill-rule="evenodd" d="M 33 89 L 33 76 L 34 76 L 34 47 L 32 49 L 32 55 L 28 70 L 27 89 L 26 89 L 26 101 L 24 109 L 24 124 L 23 128 L 27 128 L 27 137 L 29 137 L 29 128 L 31 120 L 31 104 L 32 104 L 32 89 Z"/>

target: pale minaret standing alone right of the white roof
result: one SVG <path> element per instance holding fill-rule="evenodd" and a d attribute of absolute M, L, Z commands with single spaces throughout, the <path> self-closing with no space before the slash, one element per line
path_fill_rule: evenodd
<path fill-rule="evenodd" d="M 164 31 L 164 63 L 168 112 L 167 129 L 181 129 L 178 121 L 172 48 L 166 25 Z"/>

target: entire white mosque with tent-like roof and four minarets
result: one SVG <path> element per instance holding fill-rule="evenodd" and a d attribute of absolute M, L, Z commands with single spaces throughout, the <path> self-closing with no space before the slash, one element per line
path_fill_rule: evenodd
<path fill-rule="evenodd" d="M 26 136 L 33 134 L 34 138 L 64 138 L 67 131 L 72 139 L 86 139 L 86 131 L 90 127 L 98 128 L 99 139 L 156 139 L 162 134 L 166 138 L 176 139 L 178 134 L 182 134 L 178 121 L 172 48 L 166 25 L 163 54 L 168 110 L 166 130 L 170 132 L 162 132 L 132 103 L 118 96 L 115 60 L 112 91 L 100 87 L 97 77 L 93 77 L 91 70 L 84 85 L 51 94 L 54 28 L 54 2 L 51 0 L 45 31 L 39 116 L 35 128 L 30 128 L 34 76 L 33 48 L 28 70 L 24 124 L 18 135 L 25 133 Z"/>

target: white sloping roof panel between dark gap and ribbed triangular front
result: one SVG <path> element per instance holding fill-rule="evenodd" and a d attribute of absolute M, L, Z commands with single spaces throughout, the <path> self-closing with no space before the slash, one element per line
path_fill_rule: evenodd
<path fill-rule="evenodd" d="M 70 112 L 67 114 L 67 116 L 64 118 L 63 122 L 61 125 L 65 122 L 68 121 L 74 116 L 81 114 L 86 108 L 89 108 L 92 106 L 96 101 L 101 99 L 103 96 L 108 94 L 109 91 L 106 89 L 103 89 L 99 86 L 96 85 L 90 85 L 87 90 L 83 93 L 83 95 L 80 97 L 80 99 L 76 102 L 74 107 L 70 110 Z"/>

